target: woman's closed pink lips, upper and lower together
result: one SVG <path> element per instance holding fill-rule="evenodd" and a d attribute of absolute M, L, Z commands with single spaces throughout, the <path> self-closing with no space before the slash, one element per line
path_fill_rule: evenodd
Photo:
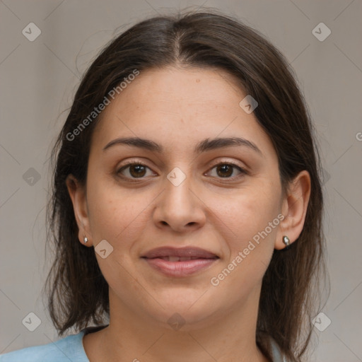
<path fill-rule="evenodd" d="M 204 271 L 220 259 L 213 252 L 199 247 L 158 247 L 141 258 L 153 269 L 173 277 L 184 277 Z"/>

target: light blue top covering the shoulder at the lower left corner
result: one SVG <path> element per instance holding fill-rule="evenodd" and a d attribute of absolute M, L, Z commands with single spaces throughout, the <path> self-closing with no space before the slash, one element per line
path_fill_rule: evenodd
<path fill-rule="evenodd" d="M 58 341 L 0 355 L 0 362 L 89 362 L 83 349 L 84 330 Z"/>

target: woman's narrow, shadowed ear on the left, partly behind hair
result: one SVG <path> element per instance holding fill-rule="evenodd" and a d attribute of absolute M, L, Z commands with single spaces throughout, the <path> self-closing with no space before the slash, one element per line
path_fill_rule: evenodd
<path fill-rule="evenodd" d="M 80 184 L 74 175 L 66 177 L 66 187 L 73 203 L 74 215 L 78 224 L 78 239 L 84 244 L 84 237 L 88 238 L 86 246 L 92 246 L 93 240 L 89 228 L 88 207 L 86 199 L 86 187 Z"/>

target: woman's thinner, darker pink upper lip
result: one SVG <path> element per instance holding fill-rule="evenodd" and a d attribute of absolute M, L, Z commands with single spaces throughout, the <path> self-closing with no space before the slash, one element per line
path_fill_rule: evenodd
<path fill-rule="evenodd" d="M 218 258 L 213 252 L 201 249 L 199 247 L 156 247 L 142 255 L 147 259 L 156 257 L 199 257 L 203 259 Z"/>

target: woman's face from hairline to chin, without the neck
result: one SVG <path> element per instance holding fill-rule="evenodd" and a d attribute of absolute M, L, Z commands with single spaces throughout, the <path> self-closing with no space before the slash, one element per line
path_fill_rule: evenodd
<path fill-rule="evenodd" d="M 141 72 L 103 111 L 78 223 L 103 250 L 95 255 L 111 310 L 165 327 L 179 313 L 192 329 L 257 308 L 283 197 L 276 151 L 240 107 L 245 96 L 223 71 L 167 68 Z M 119 140 L 130 137 L 151 144 Z M 209 255 L 193 250 L 196 261 L 177 265 L 151 259 L 158 247 Z"/>

